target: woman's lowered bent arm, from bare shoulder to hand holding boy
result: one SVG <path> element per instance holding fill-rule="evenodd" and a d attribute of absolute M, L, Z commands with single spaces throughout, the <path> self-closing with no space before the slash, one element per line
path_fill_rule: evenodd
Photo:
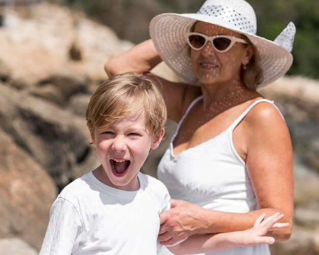
<path fill-rule="evenodd" d="M 172 200 L 172 209 L 161 215 L 158 240 L 162 244 L 173 244 L 193 234 L 249 229 L 261 213 L 269 216 L 278 211 L 285 214 L 283 221 L 289 228 L 269 235 L 276 241 L 289 239 L 294 211 L 293 156 L 288 129 L 277 109 L 269 103 L 257 104 L 234 130 L 233 143 L 236 151 L 246 156 L 258 210 L 220 212 Z M 236 144 L 246 148 L 236 148 Z"/>

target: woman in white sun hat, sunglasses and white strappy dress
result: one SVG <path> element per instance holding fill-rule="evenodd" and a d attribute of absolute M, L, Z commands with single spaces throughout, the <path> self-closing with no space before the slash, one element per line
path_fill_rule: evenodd
<path fill-rule="evenodd" d="M 185 80 L 154 77 L 168 118 L 179 123 L 157 172 L 176 199 L 161 215 L 162 244 L 245 230 L 261 213 L 276 211 L 285 214 L 282 221 L 290 227 L 270 234 L 277 241 L 290 237 L 289 132 L 278 108 L 256 89 L 290 68 L 295 31 L 289 23 L 271 42 L 255 35 L 255 13 L 244 0 L 207 0 L 196 14 L 157 15 L 150 23 L 151 40 L 105 64 L 114 75 L 151 70 L 163 60 Z M 270 252 L 258 245 L 220 254 Z"/>

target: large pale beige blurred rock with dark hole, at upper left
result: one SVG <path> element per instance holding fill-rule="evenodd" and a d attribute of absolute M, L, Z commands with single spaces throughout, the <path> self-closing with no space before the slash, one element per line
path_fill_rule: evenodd
<path fill-rule="evenodd" d="M 28 10 L 21 17 L 21 11 L 8 9 L 0 30 L 0 62 L 10 71 L 10 83 L 19 89 L 61 70 L 103 80 L 105 61 L 128 47 L 109 27 L 67 8 L 40 3 Z"/>

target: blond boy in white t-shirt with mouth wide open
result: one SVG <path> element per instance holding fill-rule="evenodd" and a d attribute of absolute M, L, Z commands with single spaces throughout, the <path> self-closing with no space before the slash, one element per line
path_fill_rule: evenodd
<path fill-rule="evenodd" d="M 86 119 L 101 165 L 58 195 L 40 254 L 156 254 L 158 215 L 169 209 L 170 196 L 164 184 L 139 171 L 164 135 L 161 92 L 147 76 L 113 76 L 93 94 Z M 280 217 L 248 231 L 192 236 L 169 249 L 183 253 L 189 245 L 201 251 L 271 243 L 260 236 Z"/>

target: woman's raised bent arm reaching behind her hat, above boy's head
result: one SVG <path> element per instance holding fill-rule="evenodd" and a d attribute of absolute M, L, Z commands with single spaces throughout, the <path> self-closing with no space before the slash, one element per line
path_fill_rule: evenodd
<path fill-rule="evenodd" d="M 179 122 L 189 104 L 201 94 L 201 91 L 198 87 L 189 86 L 183 82 L 172 82 L 150 74 L 149 71 L 161 62 L 162 59 L 153 41 L 149 39 L 115 56 L 105 63 L 104 69 L 109 77 L 125 72 L 142 72 L 148 75 L 162 91 L 168 118 Z"/>

